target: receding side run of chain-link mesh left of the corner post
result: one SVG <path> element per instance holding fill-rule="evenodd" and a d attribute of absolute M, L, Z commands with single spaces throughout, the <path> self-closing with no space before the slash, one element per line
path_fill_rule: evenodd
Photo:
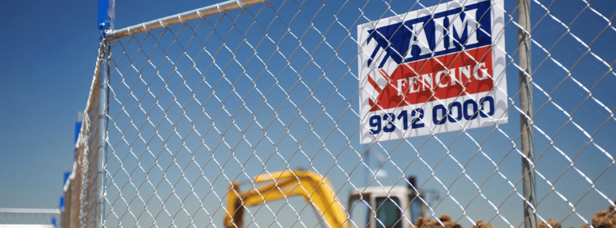
<path fill-rule="evenodd" d="M 105 118 L 100 92 L 101 67 L 105 59 L 105 45 L 100 43 L 94 78 L 75 145 L 73 170 L 63 187 L 63 202 L 60 208 L 60 227 L 95 227 L 100 225 L 102 214 L 102 128 Z M 104 71 L 103 71 L 104 72 Z"/>

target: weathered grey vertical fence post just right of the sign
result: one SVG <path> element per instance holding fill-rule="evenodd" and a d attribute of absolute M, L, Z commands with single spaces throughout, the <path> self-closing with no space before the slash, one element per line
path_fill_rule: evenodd
<path fill-rule="evenodd" d="M 520 83 L 520 130 L 522 139 L 522 194 L 524 195 L 524 227 L 537 228 L 535 196 L 535 161 L 533 142 L 533 86 L 530 70 L 530 1 L 517 0 L 517 51 Z"/>

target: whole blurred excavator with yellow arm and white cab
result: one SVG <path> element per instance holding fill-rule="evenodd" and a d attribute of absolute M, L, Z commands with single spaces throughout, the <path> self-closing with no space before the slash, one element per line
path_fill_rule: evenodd
<path fill-rule="evenodd" d="M 328 228 L 408 228 L 419 217 L 425 217 L 428 206 L 423 193 L 413 187 L 415 178 L 408 179 L 408 186 L 365 187 L 349 194 L 348 208 L 367 208 L 360 211 L 365 224 L 358 224 L 349 209 L 347 213 L 336 200 L 330 182 L 317 173 L 306 170 L 285 170 L 254 177 L 255 189 L 240 191 L 233 182 L 227 193 L 225 228 L 243 228 L 245 206 L 256 206 L 288 197 L 300 196 L 314 206 Z M 359 207 L 357 206 L 359 205 Z M 356 218 L 355 218 L 356 219 Z"/>

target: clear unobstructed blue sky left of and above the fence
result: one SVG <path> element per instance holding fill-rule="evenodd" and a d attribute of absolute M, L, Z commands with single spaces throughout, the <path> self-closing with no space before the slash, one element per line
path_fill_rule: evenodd
<path fill-rule="evenodd" d="M 116 27 L 214 3 L 118 2 Z M 57 208 L 94 72 L 97 1 L 0 1 L 0 18 L 0 208 Z"/>

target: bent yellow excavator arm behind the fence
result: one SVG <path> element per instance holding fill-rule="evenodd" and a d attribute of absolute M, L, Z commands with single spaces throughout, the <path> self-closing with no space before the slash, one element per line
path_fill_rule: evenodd
<path fill-rule="evenodd" d="M 244 206 L 256 206 L 288 197 L 301 196 L 314 206 L 330 228 L 352 228 L 347 213 L 336 200 L 330 182 L 323 176 L 304 170 L 261 174 L 254 178 L 256 189 L 240 192 L 237 183 L 229 186 L 225 228 L 243 228 Z"/>

